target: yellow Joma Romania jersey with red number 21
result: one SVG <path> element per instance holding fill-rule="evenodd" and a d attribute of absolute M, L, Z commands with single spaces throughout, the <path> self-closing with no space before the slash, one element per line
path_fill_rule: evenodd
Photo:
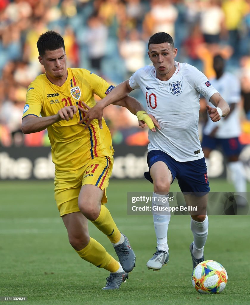
<path fill-rule="evenodd" d="M 96 104 L 94 94 L 103 99 L 114 86 L 85 69 L 67 68 L 67 79 L 59 87 L 52 84 L 46 74 L 40 74 L 29 85 L 23 118 L 28 115 L 48 117 L 57 114 L 64 106 L 77 106 L 81 101 L 89 107 Z M 49 126 L 52 160 L 56 170 L 76 170 L 88 160 L 114 153 L 111 134 L 104 121 L 100 129 L 93 120 L 87 129 L 78 124 L 84 113 L 79 109 L 72 120 L 61 120 Z"/>

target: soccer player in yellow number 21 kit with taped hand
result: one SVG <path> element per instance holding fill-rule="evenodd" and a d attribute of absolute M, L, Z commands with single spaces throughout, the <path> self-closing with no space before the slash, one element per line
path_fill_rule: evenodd
<path fill-rule="evenodd" d="M 45 74 L 28 87 L 22 130 L 28 134 L 48 129 L 55 163 L 55 199 L 69 242 L 81 258 L 110 272 L 103 289 L 118 289 L 128 278 L 136 257 L 105 206 L 113 166 L 111 135 L 104 120 L 103 128 L 97 120 L 88 128 L 84 128 L 85 123 L 78 124 L 85 113 L 77 107 L 93 107 L 94 93 L 104 98 L 114 86 L 88 70 L 66 68 L 60 34 L 45 32 L 37 47 Z M 127 96 L 116 105 L 137 114 L 140 126 L 146 122 L 155 131 L 153 121 L 135 99 Z M 107 235 L 120 262 L 89 236 L 88 220 Z"/>

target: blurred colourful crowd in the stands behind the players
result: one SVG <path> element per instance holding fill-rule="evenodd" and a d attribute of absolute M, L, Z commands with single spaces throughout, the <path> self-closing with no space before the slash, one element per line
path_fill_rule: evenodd
<path fill-rule="evenodd" d="M 111 84 L 151 63 L 147 43 L 155 32 L 171 34 L 176 60 L 208 78 L 213 56 L 221 54 L 241 81 L 241 140 L 250 143 L 250 0 L 0 0 L 2 146 L 49 146 L 46 131 L 24 136 L 20 128 L 27 86 L 44 73 L 36 42 L 46 30 L 63 35 L 68 67 L 91 70 Z M 146 128 L 126 109 L 111 105 L 104 117 L 114 143 L 147 144 Z"/>

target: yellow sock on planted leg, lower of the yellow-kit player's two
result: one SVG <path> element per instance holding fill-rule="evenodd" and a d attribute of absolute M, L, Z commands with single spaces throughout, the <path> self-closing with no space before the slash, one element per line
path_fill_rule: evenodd
<path fill-rule="evenodd" d="M 90 237 L 89 243 L 85 248 L 75 251 L 82 259 L 109 272 L 117 272 L 120 267 L 118 261 L 108 254 L 105 248 L 92 237 Z"/>

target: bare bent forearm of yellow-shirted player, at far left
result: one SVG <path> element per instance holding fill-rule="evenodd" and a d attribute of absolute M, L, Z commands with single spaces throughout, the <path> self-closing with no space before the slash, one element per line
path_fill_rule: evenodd
<path fill-rule="evenodd" d="M 38 131 L 42 131 L 50 125 L 59 122 L 61 120 L 72 120 L 74 114 L 76 114 L 76 106 L 63 107 L 57 114 L 49 117 L 36 117 L 34 115 L 28 115 L 22 120 L 22 131 L 24 134 L 30 134 Z"/>

